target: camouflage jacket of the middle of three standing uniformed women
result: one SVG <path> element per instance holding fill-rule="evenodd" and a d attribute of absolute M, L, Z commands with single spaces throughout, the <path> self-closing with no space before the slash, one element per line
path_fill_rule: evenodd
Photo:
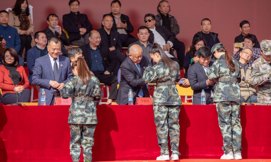
<path fill-rule="evenodd" d="M 143 80 L 145 83 L 150 83 L 156 80 L 156 83 L 177 81 L 181 79 L 179 64 L 174 61 L 177 67 L 177 71 L 169 72 L 169 69 L 164 66 L 162 60 L 160 60 L 153 67 L 147 67 L 143 73 Z M 182 101 L 179 97 L 176 85 L 159 86 L 153 93 L 153 105 L 182 105 Z"/>

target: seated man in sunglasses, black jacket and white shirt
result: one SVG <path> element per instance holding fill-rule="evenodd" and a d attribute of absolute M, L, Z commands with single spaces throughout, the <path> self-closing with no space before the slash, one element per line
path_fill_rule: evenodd
<path fill-rule="evenodd" d="M 155 19 L 153 14 L 146 14 L 144 17 L 145 25 L 148 27 L 150 36 L 149 42 L 158 43 L 161 48 L 165 51 L 166 55 L 173 61 L 176 61 L 179 64 L 179 60 L 175 58 L 173 50 L 173 42 L 175 38 L 173 34 L 165 26 L 155 26 Z"/>

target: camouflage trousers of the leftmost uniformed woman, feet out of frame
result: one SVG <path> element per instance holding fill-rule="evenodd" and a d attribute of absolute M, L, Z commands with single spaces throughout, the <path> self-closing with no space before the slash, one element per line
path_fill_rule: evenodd
<path fill-rule="evenodd" d="M 83 147 L 84 161 L 92 161 L 92 146 L 96 124 L 70 124 L 70 155 L 73 162 L 78 162 Z"/>

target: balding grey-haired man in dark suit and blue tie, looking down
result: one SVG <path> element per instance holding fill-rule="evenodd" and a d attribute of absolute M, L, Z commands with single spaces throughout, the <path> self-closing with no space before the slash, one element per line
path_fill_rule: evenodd
<path fill-rule="evenodd" d="M 142 54 L 139 45 L 132 45 L 129 48 L 129 57 L 121 64 L 117 104 L 128 104 L 129 89 L 132 89 L 134 104 L 136 97 L 150 97 L 142 76 L 145 68 L 152 65 Z"/>

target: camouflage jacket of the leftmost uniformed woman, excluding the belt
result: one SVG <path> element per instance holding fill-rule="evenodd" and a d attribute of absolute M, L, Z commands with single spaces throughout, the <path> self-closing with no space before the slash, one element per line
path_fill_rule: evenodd
<path fill-rule="evenodd" d="M 96 76 L 91 76 L 86 86 L 79 78 L 74 76 L 60 90 L 62 98 L 68 97 L 93 97 L 100 100 L 100 81 Z M 73 101 L 70 105 L 68 123 L 70 124 L 97 124 L 96 106 L 93 101 Z"/>

